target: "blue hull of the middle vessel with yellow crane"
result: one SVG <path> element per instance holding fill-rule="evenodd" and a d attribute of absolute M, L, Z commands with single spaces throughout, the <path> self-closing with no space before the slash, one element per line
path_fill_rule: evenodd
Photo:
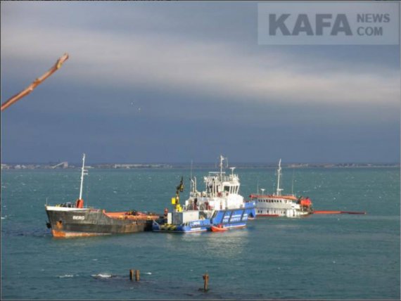
<path fill-rule="evenodd" d="M 221 224 L 224 228 L 242 228 L 249 217 L 256 217 L 255 201 L 245 203 L 244 208 L 216 210 L 210 219 L 198 219 L 184 224 L 158 224 L 153 222 L 153 231 L 193 233 L 210 231 L 212 226 Z"/>

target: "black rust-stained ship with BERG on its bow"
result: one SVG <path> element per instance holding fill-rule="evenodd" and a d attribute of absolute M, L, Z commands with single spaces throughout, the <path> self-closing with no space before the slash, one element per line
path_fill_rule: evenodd
<path fill-rule="evenodd" d="M 160 217 L 159 214 L 151 212 L 136 210 L 106 212 L 106 210 L 85 207 L 82 199 L 82 187 L 86 175 L 84 154 L 79 198 L 74 203 L 45 205 L 49 218 L 49 222 L 46 224 L 54 237 L 68 238 L 151 231 L 153 220 L 163 218 L 163 216 Z"/>

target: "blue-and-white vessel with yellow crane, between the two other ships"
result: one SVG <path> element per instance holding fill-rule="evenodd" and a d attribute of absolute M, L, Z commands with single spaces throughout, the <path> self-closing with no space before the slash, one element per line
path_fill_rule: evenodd
<path fill-rule="evenodd" d="M 162 223 L 153 221 L 153 231 L 200 232 L 233 229 L 246 226 L 249 217 L 255 217 L 255 201 L 239 195 L 240 181 L 230 167 L 231 174 L 223 172 L 224 158 L 220 155 L 220 171 L 204 177 L 205 191 L 196 188 L 196 177 L 191 177 L 191 191 L 185 205 L 179 203 L 179 192 L 184 191 L 183 177 L 177 186 L 173 212 L 167 213 Z M 217 229 L 219 228 L 219 229 Z"/>

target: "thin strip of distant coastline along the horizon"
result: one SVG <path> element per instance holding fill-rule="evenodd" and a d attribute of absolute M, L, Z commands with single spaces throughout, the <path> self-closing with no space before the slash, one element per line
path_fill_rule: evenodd
<path fill-rule="evenodd" d="M 238 168 L 276 168 L 276 163 L 233 163 Z M 288 163 L 283 164 L 284 168 L 371 168 L 371 167 L 394 167 L 400 168 L 400 163 Z M 68 162 L 59 163 L 47 163 L 47 164 L 1 164 L 1 170 L 3 169 L 75 169 L 80 168 L 79 164 L 68 164 Z M 132 164 L 120 164 L 120 163 L 104 163 L 104 164 L 93 164 L 87 165 L 87 168 L 94 169 L 172 169 L 172 168 L 191 168 L 191 164 L 188 163 L 132 163 Z M 203 168 L 217 168 L 212 163 L 198 163 L 192 165 L 193 169 Z"/>

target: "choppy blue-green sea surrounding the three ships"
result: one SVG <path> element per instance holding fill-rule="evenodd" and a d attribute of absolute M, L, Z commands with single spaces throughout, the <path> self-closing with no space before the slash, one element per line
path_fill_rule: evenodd
<path fill-rule="evenodd" d="M 198 188 L 208 169 L 195 169 Z M 79 169 L 1 171 L 1 299 L 400 299 L 400 169 L 283 169 L 284 192 L 310 196 L 300 219 L 255 219 L 225 233 L 53 238 L 45 203 L 74 201 Z M 238 168 L 240 193 L 272 192 L 274 169 Z M 113 210 L 171 209 L 189 169 L 89 169 L 84 200 Z M 129 281 L 129 269 L 141 281 Z M 210 276 L 207 293 L 203 274 Z M 111 277 L 109 277 L 111 276 Z"/>

